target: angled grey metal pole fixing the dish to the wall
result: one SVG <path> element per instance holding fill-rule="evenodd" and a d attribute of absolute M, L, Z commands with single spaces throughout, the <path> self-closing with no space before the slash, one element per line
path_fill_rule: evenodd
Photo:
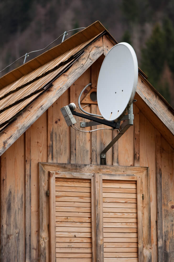
<path fill-rule="evenodd" d="M 133 103 L 131 107 L 128 110 L 128 114 L 123 117 L 122 120 L 127 119 L 121 124 L 120 129 L 118 130 L 119 133 L 116 135 L 116 137 L 106 146 L 106 148 L 101 152 L 100 155 L 100 164 L 106 165 L 106 152 L 115 144 L 115 142 L 128 130 L 128 128 L 133 125 Z"/>

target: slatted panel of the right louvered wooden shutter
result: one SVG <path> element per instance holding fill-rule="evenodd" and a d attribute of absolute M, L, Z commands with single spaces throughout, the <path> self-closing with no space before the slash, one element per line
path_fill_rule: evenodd
<path fill-rule="evenodd" d="M 136 181 L 103 180 L 104 262 L 137 262 Z"/>

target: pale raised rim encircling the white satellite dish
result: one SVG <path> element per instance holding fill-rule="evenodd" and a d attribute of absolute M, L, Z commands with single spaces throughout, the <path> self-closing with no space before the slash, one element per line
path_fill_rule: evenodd
<path fill-rule="evenodd" d="M 120 45 L 123 45 L 124 47 L 126 47 L 126 48 L 129 50 L 130 54 L 131 54 L 132 61 L 133 61 L 133 73 L 134 73 L 133 80 L 134 80 L 134 81 L 133 81 L 133 84 L 132 84 L 131 95 L 130 95 L 130 97 L 129 97 L 129 99 L 128 99 L 128 102 L 127 102 L 126 106 L 125 106 L 124 109 L 122 110 L 122 112 L 119 113 L 118 117 L 117 117 L 117 118 L 114 118 L 114 119 L 111 119 L 111 117 L 108 118 L 108 117 L 103 116 L 107 121 L 120 120 L 120 119 L 126 114 L 127 110 L 130 108 L 130 106 L 131 106 L 131 104 L 132 104 L 132 102 L 133 102 L 133 99 L 134 99 L 134 96 L 135 96 L 135 92 L 136 92 L 136 88 L 137 88 L 137 83 L 138 83 L 138 61 L 137 61 L 137 56 L 136 56 L 136 54 L 135 54 L 135 51 L 134 51 L 133 47 L 132 47 L 129 43 L 126 43 L 126 42 L 118 43 L 117 45 L 113 46 L 113 47 L 109 50 L 109 52 L 107 53 L 107 55 L 106 55 L 105 58 L 104 58 L 104 61 L 103 61 L 102 65 L 101 65 L 101 68 L 100 68 L 99 77 L 98 77 L 98 81 L 97 81 L 97 102 L 98 102 L 98 107 L 99 107 L 100 113 L 101 113 L 102 115 L 104 115 L 103 112 L 102 112 L 103 109 L 101 109 L 101 105 L 100 105 L 100 102 L 99 102 L 99 100 L 98 100 L 99 92 L 101 92 L 101 90 L 99 91 L 98 83 L 99 83 L 100 78 L 102 79 L 102 76 L 100 76 L 100 75 L 102 74 L 102 73 L 101 73 L 101 71 L 102 71 L 102 66 L 103 66 L 103 64 L 106 63 L 105 61 L 106 61 L 106 59 L 107 59 L 107 56 L 108 56 L 108 54 L 109 54 L 110 52 L 112 52 L 113 48 L 116 48 L 117 46 L 120 46 Z M 116 72 L 116 73 L 117 73 L 117 72 Z"/>

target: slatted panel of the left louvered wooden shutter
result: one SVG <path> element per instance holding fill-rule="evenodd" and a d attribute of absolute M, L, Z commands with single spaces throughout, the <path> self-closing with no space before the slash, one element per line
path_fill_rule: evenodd
<path fill-rule="evenodd" d="M 91 262 L 91 179 L 56 177 L 56 261 Z"/>

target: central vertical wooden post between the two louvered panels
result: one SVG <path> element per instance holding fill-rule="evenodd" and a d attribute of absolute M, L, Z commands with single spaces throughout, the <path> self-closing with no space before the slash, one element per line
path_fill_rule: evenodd
<path fill-rule="evenodd" d="M 92 210 L 92 253 L 93 261 L 104 260 L 103 246 L 103 201 L 102 201 L 102 175 L 92 174 L 91 178 L 91 210 Z M 95 241 L 94 241 L 95 239 Z M 94 241 L 94 243 L 93 243 Z M 95 260 L 94 260 L 95 257 Z"/>

